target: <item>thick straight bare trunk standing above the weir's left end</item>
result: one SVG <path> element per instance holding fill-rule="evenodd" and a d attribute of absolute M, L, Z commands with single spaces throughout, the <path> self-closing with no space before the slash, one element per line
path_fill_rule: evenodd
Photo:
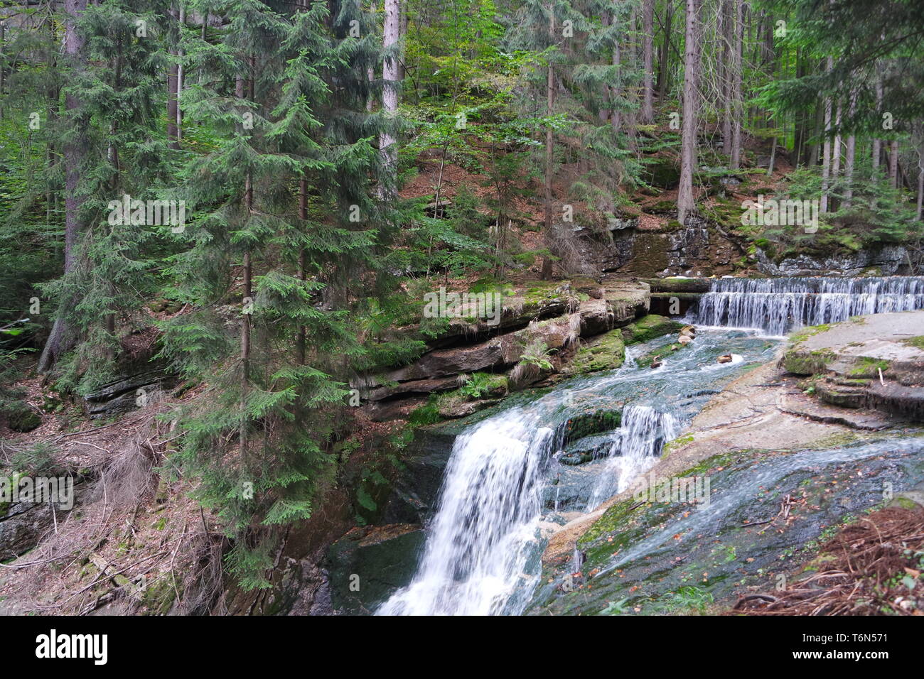
<path fill-rule="evenodd" d="M 684 107 L 680 141 L 680 186 L 677 190 L 677 221 L 687 224 L 696 209 L 693 168 L 696 166 L 697 106 L 699 105 L 699 7 L 701 0 L 686 0 L 687 29 L 684 45 Z"/>

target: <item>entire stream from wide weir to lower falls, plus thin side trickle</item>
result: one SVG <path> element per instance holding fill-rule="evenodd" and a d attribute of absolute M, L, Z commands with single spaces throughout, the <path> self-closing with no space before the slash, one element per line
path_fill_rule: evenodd
<path fill-rule="evenodd" d="M 458 436 L 417 572 L 377 613 L 522 612 L 539 581 L 542 527 L 563 525 L 625 490 L 725 382 L 744 366 L 772 357 L 780 340 L 765 333 L 780 335 L 793 327 L 858 314 L 921 308 L 924 278 L 717 280 L 701 298 L 693 320 L 724 327 L 700 328 L 692 346 L 676 354 L 665 352 L 660 368 L 639 368 L 634 358 L 673 337 L 630 347 L 618 370 L 563 382 L 540 396 L 512 397 L 509 406 Z M 717 363 L 726 353 L 742 359 Z M 570 423 L 599 411 L 621 411 L 621 425 L 572 440 Z M 591 461 L 564 464 L 575 450 Z M 835 449 L 825 455 L 862 458 L 875 453 L 875 448 Z M 819 455 L 768 462 L 748 489 L 771 482 L 782 466 L 806 464 Z M 722 502 L 735 499 L 728 496 Z M 698 513 L 695 521 L 707 526 L 723 511 L 723 503 Z M 634 545 L 620 563 L 662 542 L 659 534 Z M 576 559 L 579 567 L 579 554 Z"/>

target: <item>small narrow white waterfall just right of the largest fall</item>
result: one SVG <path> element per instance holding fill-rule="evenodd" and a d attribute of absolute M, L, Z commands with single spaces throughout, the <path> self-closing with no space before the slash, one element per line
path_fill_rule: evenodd
<path fill-rule="evenodd" d="M 625 491 L 632 479 L 654 464 L 664 443 L 673 439 L 679 429 L 679 422 L 669 413 L 650 406 L 626 406 L 621 435 L 590 493 L 586 511 L 593 511 L 607 498 Z"/>

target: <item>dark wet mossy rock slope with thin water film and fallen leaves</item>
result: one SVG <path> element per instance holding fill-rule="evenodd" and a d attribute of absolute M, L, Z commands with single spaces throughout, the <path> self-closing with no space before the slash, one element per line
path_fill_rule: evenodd
<path fill-rule="evenodd" d="M 577 540 L 580 572 L 570 555 L 547 564 L 528 612 L 706 612 L 773 588 L 833 530 L 881 506 L 883 484 L 924 479 L 922 451 L 912 439 L 712 456 L 685 472 L 710 479 L 708 503 L 614 503 Z"/>

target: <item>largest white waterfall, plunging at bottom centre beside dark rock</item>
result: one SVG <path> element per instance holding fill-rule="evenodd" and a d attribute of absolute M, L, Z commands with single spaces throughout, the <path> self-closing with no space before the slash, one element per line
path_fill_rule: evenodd
<path fill-rule="evenodd" d="M 490 615 L 507 610 L 538 543 L 543 472 L 553 430 L 512 408 L 456 439 L 417 575 L 383 615 Z M 516 611 L 514 611 L 516 612 Z"/>

